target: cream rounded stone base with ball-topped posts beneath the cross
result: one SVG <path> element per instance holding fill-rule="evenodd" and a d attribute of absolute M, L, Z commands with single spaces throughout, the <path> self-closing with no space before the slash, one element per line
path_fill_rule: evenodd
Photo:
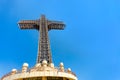
<path fill-rule="evenodd" d="M 46 60 L 37 63 L 33 68 L 28 68 L 24 63 L 22 70 L 12 71 L 2 77 L 2 80 L 78 80 L 70 68 L 64 69 L 63 63 L 54 67 L 53 63 L 48 64 Z"/>

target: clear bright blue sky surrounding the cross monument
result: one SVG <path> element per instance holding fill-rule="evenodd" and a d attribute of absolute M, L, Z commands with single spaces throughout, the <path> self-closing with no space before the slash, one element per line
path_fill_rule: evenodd
<path fill-rule="evenodd" d="M 79 80 L 120 80 L 119 0 L 0 0 L 0 77 L 35 65 L 38 32 L 17 22 L 41 14 L 66 24 L 49 32 L 56 66 L 64 62 Z"/>

